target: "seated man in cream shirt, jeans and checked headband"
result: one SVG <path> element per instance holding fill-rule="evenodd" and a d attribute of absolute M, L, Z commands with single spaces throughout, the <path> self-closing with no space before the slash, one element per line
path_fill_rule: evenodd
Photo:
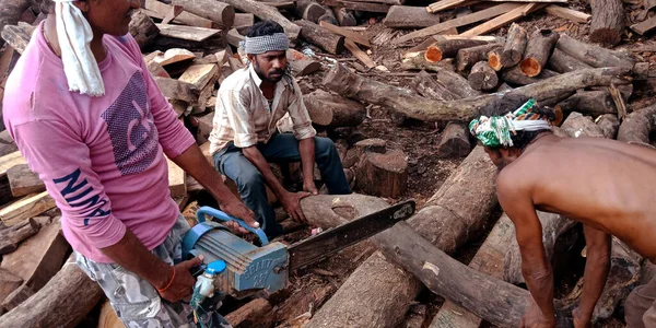
<path fill-rule="evenodd" d="M 289 39 L 282 27 L 270 21 L 250 27 L 245 51 L 250 63 L 230 75 L 219 89 L 211 148 L 216 169 L 234 180 L 242 200 L 267 233 L 282 233 L 273 209 L 267 202 L 267 184 L 285 211 L 305 221 L 298 201 L 317 195 L 313 173 L 315 160 L 330 194 L 350 194 L 337 149 L 330 139 L 315 137 L 298 84 L 286 61 Z M 294 133 L 276 133 L 276 124 L 285 113 Z M 268 161 L 301 161 L 303 190 L 289 192 L 276 178 Z"/>

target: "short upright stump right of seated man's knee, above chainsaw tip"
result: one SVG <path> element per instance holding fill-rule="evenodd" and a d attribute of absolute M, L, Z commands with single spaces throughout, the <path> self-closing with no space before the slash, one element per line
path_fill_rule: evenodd
<path fill-rule="evenodd" d="M 408 188 L 408 156 L 402 150 L 365 153 L 359 164 L 355 186 L 367 195 L 398 198 Z"/>

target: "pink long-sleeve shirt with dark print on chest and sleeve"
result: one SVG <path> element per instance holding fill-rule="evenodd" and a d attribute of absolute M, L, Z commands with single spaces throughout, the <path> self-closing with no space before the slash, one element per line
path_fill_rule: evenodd
<path fill-rule="evenodd" d="M 153 249 L 179 214 L 164 153 L 178 156 L 192 136 L 129 34 L 104 37 L 106 93 L 90 97 L 69 92 L 61 59 L 38 32 L 7 82 L 2 114 L 11 137 L 61 210 L 73 249 L 112 262 L 98 248 L 118 243 L 126 229 Z"/>

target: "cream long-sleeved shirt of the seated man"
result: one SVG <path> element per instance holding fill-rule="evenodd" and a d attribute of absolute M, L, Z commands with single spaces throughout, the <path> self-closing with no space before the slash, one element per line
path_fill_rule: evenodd
<path fill-rule="evenodd" d="M 211 154 L 231 141 L 238 148 L 268 142 L 276 132 L 276 124 L 288 113 L 297 140 L 316 134 L 295 81 L 282 79 L 276 83 L 271 106 L 259 87 L 261 83 L 253 65 L 235 71 L 221 83 L 210 133 Z"/>

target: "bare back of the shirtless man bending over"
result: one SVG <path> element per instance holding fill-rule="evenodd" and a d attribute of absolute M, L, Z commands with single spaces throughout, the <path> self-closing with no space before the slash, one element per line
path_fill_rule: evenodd
<path fill-rule="evenodd" d="M 544 133 L 503 168 L 497 185 L 515 185 L 523 190 L 517 194 L 529 197 L 536 209 L 614 235 L 656 262 L 654 150 Z"/>

